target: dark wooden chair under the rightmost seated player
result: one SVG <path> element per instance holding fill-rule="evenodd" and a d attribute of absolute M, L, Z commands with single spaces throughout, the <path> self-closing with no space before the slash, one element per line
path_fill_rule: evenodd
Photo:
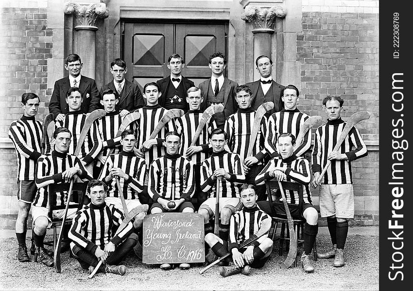
<path fill-rule="evenodd" d="M 295 182 L 281 182 L 282 187 L 284 188 L 284 191 L 294 191 L 298 193 L 298 199 L 299 202 L 298 204 L 291 204 L 288 203 L 290 211 L 296 209 L 299 210 L 301 213 L 302 210 L 302 203 L 303 203 L 303 196 L 304 196 L 304 190 L 303 190 L 303 185 Z M 279 190 L 279 185 L 278 181 L 276 180 L 268 180 L 265 182 L 265 185 L 267 187 L 267 196 L 268 196 L 268 201 L 270 202 L 270 207 L 272 210 L 272 213 L 276 213 L 275 211 L 275 206 L 281 207 L 284 209 L 284 203 L 280 201 L 278 198 L 274 199 L 273 195 L 276 194 L 276 192 Z M 275 195 L 277 197 L 277 195 Z M 290 230 L 288 227 L 288 220 L 287 220 L 287 215 L 283 215 L 280 213 L 275 214 L 275 216 L 272 216 L 272 227 L 274 227 L 273 234 L 272 234 L 272 239 L 274 241 L 275 238 L 275 232 L 277 229 L 278 224 L 281 224 L 281 229 L 280 229 L 280 237 L 279 237 L 279 249 L 278 249 L 278 255 L 282 256 L 282 248 L 284 245 L 285 241 L 290 241 Z M 296 217 L 295 217 L 296 218 Z M 304 224 L 306 223 L 306 220 L 301 217 L 299 219 L 294 219 L 293 217 L 293 225 L 294 225 L 294 231 L 295 231 L 295 237 L 297 240 L 297 245 L 303 244 L 303 232 L 304 232 Z M 287 228 L 287 234 L 285 233 Z M 301 237 L 300 237 L 300 230 L 301 230 Z M 286 242 L 286 251 L 290 248 L 290 244 Z M 314 254 L 314 261 L 317 261 L 317 244 L 314 242 L 313 245 L 313 254 Z M 297 258 L 295 258 L 294 262 L 294 267 L 297 266 Z"/>

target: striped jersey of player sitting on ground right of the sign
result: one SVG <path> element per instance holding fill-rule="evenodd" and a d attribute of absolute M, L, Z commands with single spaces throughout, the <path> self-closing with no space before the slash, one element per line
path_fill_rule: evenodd
<path fill-rule="evenodd" d="M 253 208 L 244 207 L 232 214 L 229 221 L 228 251 L 231 252 L 233 248 L 238 249 L 242 242 L 256 235 L 266 219 L 271 221 L 270 216 L 257 205 Z M 268 233 L 263 235 L 263 237 L 267 236 Z"/>

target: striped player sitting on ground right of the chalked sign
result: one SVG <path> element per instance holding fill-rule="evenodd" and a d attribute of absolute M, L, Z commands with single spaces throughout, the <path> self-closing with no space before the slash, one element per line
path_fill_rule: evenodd
<path fill-rule="evenodd" d="M 248 275 L 250 267 L 262 268 L 273 250 L 273 241 L 268 238 L 271 218 L 257 206 L 258 195 L 254 185 L 244 184 L 240 191 L 243 208 L 231 216 L 229 240 L 224 241 L 213 233 L 205 236 L 205 242 L 215 255 L 222 257 L 228 251 L 232 253 L 234 266 L 220 267 L 220 274 L 224 277 L 240 272 Z M 246 249 L 240 249 L 240 244 L 256 235 L 259 230 L 261 233 L 264 230 L 264 234 Z"/>

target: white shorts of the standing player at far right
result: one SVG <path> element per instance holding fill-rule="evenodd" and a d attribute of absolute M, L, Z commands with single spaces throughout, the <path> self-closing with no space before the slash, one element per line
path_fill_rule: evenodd
<path fill-rule="evenodd" d="M 320 215 L 354 219 L 353 184 L 321 184 Z"/>

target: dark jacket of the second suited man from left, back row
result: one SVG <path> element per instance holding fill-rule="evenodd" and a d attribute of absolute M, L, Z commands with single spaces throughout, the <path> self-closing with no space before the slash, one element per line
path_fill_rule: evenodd
<path fill-rule="evenodd" d="M 106 89 L 112 89 L 117 96 L 119 96 L 118 91 L 113 84 L 113 80 L 104 85 L 101 89 L 102 92 Z M 141 108 L 145 105 L 145 100 L 143 100 L 142 93 L 139 90 L 138 84 L 125 80 L 123 85 L 123 95 L 120 97 L 118 104 L 115 106 L 115 109 L 121 111 L 126 109 L 129 112 L 133 112 L 138 108 Z M 103 107 L 102 107 L 103 108 Z"/>

